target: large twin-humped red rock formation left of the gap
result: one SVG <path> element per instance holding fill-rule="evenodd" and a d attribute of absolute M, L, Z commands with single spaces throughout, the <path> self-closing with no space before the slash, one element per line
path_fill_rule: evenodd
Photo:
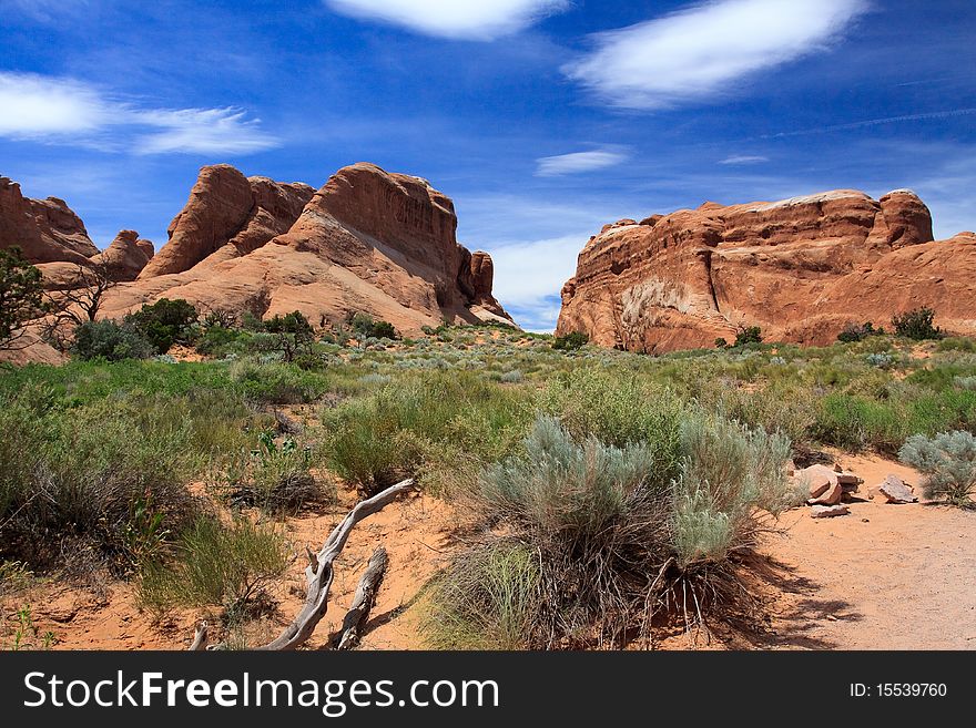
<path fill-rule="evenodd" d="M 301 310 L 316 327 L 364 311 L 414 334 L 445 317 L 510 320 L 491 296 L 490 256 L 458 244 L 456 229 L 450 198 L 372 164 L 317 192 L 205 167 L 169 243 L 102 310 L 185 298 L 258 316 Z"/>

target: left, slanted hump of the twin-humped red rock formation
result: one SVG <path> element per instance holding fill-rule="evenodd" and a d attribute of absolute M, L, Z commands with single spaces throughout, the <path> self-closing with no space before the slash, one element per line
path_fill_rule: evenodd
<path fill-rule="evenodd" d="M 203 167 L 140 278 L 183 273 L 214 254 L 211 263 L 246 255 L 287 230 L 312 194 L 308 185 L 248 180 L 227 164 Z"/>

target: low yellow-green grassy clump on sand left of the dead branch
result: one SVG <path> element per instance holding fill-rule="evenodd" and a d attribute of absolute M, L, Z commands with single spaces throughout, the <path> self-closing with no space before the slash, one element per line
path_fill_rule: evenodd
<path fill-rule="evenodd" d="M 157 613 L 176 606 L 222 606 L 233 618 L 285 573 L 288 551 L 272 526 L 244 517 L 224 524 L 212 515 L 200 516 L 181 534 L 173 560 L 144 565 L 139 602 Z"/>

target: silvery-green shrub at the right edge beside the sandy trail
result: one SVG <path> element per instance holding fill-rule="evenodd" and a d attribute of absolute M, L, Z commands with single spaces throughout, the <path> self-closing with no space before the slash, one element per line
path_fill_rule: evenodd
<path fill-rule="evenodd" d="M 934 438 L 915 434 L 905 441 L 898 458 L 925 475 L 928 499 L 953 505 L 976 506 L 976 438 L 970 432 L 943 432 Z"/>

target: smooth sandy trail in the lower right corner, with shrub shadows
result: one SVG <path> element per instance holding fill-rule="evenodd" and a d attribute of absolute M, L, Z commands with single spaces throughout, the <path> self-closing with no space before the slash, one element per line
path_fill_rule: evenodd
<path fill-rule="evenodd" d="M 843 457 L 865 480 L 860 495 L 909 468 Z M 774 596 L 770 632 L 756 648 L 976 649 L 976 512 L 884 498 L 851 504 L 851 514 L 814 520 L 805 510 L 771 536 Z"/>

